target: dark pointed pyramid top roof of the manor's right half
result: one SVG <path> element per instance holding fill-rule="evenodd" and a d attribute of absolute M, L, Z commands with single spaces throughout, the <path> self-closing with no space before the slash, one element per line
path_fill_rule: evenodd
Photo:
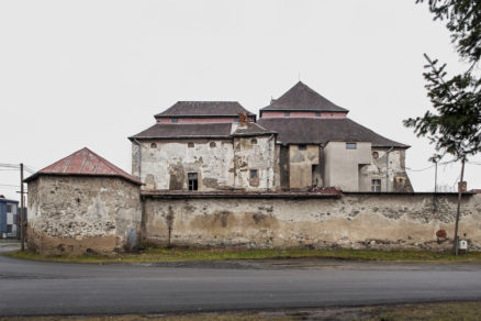
<path fill-rule="evenodd" d="M 338 107 L 302 81 L 295 84 L 279 99 L 272 99 L 268 107 L 261 109 L 261 111 L 269 110 L 348 112 L 347 109 Z"/>

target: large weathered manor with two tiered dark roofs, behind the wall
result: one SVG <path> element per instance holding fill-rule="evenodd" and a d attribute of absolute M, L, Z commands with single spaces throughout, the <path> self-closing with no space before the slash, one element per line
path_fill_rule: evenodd
<path fill-rule="evenodd" d="M 299 81 L 260 109 L 178 101 L 130 137 L 149 191 L 413 191 L 405 151 Z"/>

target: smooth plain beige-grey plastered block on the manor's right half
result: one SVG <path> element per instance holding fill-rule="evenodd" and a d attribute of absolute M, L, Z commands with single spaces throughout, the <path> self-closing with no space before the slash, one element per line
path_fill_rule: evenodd
<path fill-rule="evenodd" d="M 355 150 L 346 148 L 346 142 L 329 142 L 323 148 L 324 186 L 335 186 L 345 191 L 362 191 L 359 166 L 371 164 L 371 143 L 354 143 Z"/>

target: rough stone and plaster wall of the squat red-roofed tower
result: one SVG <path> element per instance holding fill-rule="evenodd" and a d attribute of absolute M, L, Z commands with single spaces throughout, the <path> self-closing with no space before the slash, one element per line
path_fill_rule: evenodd
<path fill-rule="evenodd" d="M 139 188 L 120 178 L 40 176 L 29 182 L 29 246 L 42 254 L 122 251 L 141 231 Z"/>

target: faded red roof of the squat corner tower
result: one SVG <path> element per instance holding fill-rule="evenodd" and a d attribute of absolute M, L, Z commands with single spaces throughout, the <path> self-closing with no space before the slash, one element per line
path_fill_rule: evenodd
<path fill-rule="evenodd" d="M 142 185 L 137 177 L 125 173 L 87 147 L 38 170 L 26 178 L 25 182 L 35 179 L 40 175 L 114 176 Z"/>

